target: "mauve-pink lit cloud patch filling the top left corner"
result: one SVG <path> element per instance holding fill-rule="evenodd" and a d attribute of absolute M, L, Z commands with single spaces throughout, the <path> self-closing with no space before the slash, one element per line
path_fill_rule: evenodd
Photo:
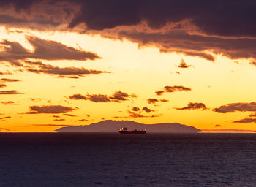
<path fill-rule="evenodd" d="M 72 1 L 26 0 L 1 1 L 1 25 L 32 29 L 63 28 L 78 13 L 79 7 Z M 67 26 L 66 26 L 67 27 Z"/>

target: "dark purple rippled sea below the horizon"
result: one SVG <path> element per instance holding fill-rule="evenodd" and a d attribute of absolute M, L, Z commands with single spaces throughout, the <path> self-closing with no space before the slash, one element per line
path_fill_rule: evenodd
<path fill-rule="evenodd" d="M 256 134 L 0 134 L 0 186 L 256 186 Z"/>

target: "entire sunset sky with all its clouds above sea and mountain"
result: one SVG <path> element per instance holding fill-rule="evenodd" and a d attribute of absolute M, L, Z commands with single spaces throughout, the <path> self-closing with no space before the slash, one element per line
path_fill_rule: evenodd
<path fill-rule="evenodd" d="M 255 1 L 0 1 L 0 131 L 102 120 L 256 130 Z"/>

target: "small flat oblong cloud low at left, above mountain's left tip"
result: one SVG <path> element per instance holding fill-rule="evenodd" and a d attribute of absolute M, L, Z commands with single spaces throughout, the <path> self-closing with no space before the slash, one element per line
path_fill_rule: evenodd
<path fill-rule="evenodd" d="M 29 109 L 31 112 L 30 114 L 58 114 L 58 113 L 66 113 L 72 112 L 75 110 L 72 107 L 64 107 L 61 105 L 48 105 L 48 106 L 30 106 Z"/>

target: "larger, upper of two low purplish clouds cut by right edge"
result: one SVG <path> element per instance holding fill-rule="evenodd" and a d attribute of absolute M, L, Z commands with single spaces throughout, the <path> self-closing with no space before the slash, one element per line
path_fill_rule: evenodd
<path fill-rule="evenodd" d="M 238 102 L 238 103 L 230 103 L 226 105 L 222 105 L 218 108 L 213 109 L 214 112 L 219 113 L 228 113 L 228 112 L 246 112 L 246 111 L 256 111 L 256 102 Z"/>

